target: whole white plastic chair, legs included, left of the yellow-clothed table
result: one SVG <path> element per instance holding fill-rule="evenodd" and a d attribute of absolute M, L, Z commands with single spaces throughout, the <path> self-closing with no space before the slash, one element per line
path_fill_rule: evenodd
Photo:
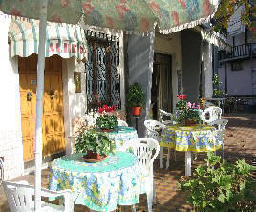
<path fill-rule="evenodd" d="M 144 125 L 146 127 L 146 137 L 156 139 L 158 142 L 160 142 L 161 136 L 157 130 L 159 131 L 165 130 L 166 125 L 164 125 L 158 120 L 145 120 Z M 166 169 L 168 169 L 169 167 L 169 148 L 168 148 L 167 156 L 168 157 L 166 162 Z M 163 160 L 163 147 L 160 146 L 160 168 L 163 168 L 162 160 Z"/>

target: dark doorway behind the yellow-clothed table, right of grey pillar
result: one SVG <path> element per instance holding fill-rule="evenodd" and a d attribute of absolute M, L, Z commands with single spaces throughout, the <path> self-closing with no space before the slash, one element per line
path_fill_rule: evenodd
<path fill-rule="evenodd" d="M 172 57 L 154 53 L 151 104 L 153 119 L 160 120 L 159 109 L 172 111 Z"/>

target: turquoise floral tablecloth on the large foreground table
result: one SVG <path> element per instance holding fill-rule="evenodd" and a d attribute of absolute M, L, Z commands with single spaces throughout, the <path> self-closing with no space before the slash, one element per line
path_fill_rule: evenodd
<path fill-rule="evenodd" d="M 115 210 L 117 204 L 139 203 L 145 192 L 144 179 L 137 157 L 117 152 L 107 159 L 87 163 L 83 154 L 53 160 L 50 168 L 50 189 L 71 189 L 75 204 L 96 211 Z"/>

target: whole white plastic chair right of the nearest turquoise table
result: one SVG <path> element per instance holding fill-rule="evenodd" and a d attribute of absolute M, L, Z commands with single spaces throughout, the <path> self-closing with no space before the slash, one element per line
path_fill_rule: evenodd
<path fill-rule="evenodd" d="M 132 151 L 138 159 L 145 179 L 148 211 L 152 212 L 152 201 L 156 203 L 155 185 L 153 179 L 153 162 L 157 158 L 160 145 L 153 138 L 135 138 L 124 145 L 124 150 Z M 133 211 L 135 207 L 133 205 Z"/>

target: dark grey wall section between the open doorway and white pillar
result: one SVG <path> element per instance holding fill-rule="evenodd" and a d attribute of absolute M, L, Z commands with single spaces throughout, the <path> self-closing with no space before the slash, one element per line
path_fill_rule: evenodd
<path fill-rule="evenodd" d="M 183 93 L 187 100 L 196 102 L 199 97 L 199 78 L 201 63 L 201 35 L 199 32 L 183 30 L 182 45 L 182 76 Z"/>

